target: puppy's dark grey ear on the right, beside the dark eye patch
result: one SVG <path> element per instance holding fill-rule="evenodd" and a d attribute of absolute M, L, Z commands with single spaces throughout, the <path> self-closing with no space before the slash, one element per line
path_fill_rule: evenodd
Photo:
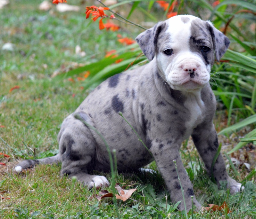
<path fill-rule="evenodd" d="M 219 59 L 224 55 L 229 46 L 229 39 L 222 32 L 217 30 L 213 25 L 207 21 L 208 29 L 211 33 L 211 38 L 214 46 L 215 57 L 219 62 Z"/>

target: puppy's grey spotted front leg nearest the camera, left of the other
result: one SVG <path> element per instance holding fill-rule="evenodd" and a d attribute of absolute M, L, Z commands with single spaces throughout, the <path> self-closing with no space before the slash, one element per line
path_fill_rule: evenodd
<path fill-rule="evenodd" d="M 180 145 L 171 143 L 171 141 L 154 140 L 150 148 L 151 153 L 156 161 L 157 167 L 164 178 L 164 181 L 170 192 L 172 202 L 182 201 L 178 208 L 184 210 L 184 201 L 181 193 L 181 186 L 178 180 L 178 174 L 184 190 L 187 211 L 192 208 L 191 196 L 194 195 L 193 186 L 189 180 L 186 170 L 183 166 L 179 155 Z M 175 169 L 173 160 L 177 161 L 178 174 Z M 201 205 L 194 197 L 194 210 L 200 210 Z"/>

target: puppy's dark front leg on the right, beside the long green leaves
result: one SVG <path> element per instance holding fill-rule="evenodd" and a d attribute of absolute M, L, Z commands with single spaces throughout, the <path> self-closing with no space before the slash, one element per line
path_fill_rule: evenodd
<path fill-rule="evenodd" d="M 213 174 L 218 185 L 220 184 L 220 181 L 226 181 L 227 188 L 230 189 L 231 194 L 239 192 L 242 184 L 237 183 L 234 179 L 227 175 L 225 161 L 221 154 L 219 154 L 211 171 L 212 160 L 219 147 L 218 137 L 213 123 L 205 122 L 200 124 L 194 129 L 192 138 L 200 156 L 202 157 L 209 176 L 211 177 Z"/>

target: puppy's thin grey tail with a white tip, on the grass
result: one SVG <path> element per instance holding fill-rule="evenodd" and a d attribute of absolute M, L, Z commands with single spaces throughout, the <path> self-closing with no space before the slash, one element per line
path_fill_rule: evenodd
<path fill-rule="evenodd" d="M 52 163 L 59 163 L 59 162 L 61 162 L 61 155 L 58 153 L 55 156 L 46 157 L 46 158 L 37 159 L 37 160 L 22 160 L 20 163 L 18 163 L 14 167 L 14 169 L 16 172 L 19 173 L 22 170 L 32 168 L 37 164 L 52 164 Z"/>

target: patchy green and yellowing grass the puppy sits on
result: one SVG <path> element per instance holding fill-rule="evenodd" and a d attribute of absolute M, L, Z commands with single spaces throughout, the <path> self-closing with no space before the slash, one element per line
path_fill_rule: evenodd
<path fill-rule="evenodd" d="M 70 3 L 77 3 L 73 1 Z M 90 5 L 90 3 L 86 3 Z M 54 72 L 66 72 L 76 63 L 100 60 L 106 51 L 121 48 L 116 32 L 100 31 L 98 24 L 85 20 L 80 12 L 59 13 L 38 10 L 37 1 L 10 1 L 0 11 L 0 48 L 4 43 L 15 44 L 14 51 L 0 50 L 0 218 L 116 218 L 111 199 L 99 202 L 90 199 L 99 191 L 88 191 L 78 182 L 60 176 L 60 165 L 39 165 L 21 175 L 12 168 L 21 159 L 42 158 L 57 153 L 57 134 L 63 119 L 72 113 L 90 92 L 75 80 L 53 81 Z M 128 31 L 129 30 L 129 31 Z M 141 30 L 122 29 L 122 35 L 135 38 Z M 129 32 L 129 33 L 128 33 Z M 75 54 L 75 46 L 86 51 L 85 57 Z M 9 90 L 15 85 L 20 89 Z M 238 120 L 237 115 L 234 120 Z M 226 127 L 227 115 L 219 111 L 217 130 Z M 229 137 L 220 136 L 224 151 L 243 136 L 246 129 Z M 248 132 L 248 130 L 247 130 Z M 5 143 L 4 143 L 5 142 Z M 232 157 L 255 166 L 253 145 L 237 151 Z M 198 159 L 191 140 L 182 145 L 181 156 L 193 185 L 197 200 L 207 206 L 224 201 L 233 213 L 194 213 L 193 218 L 255 217 L 255 174 L 244 166 L 228 168 L 229 175 L 244 180 L 245 191 L 230 195 L 212 183 Z M 227 160 L 228 163 L 228 160 Z M 150 167 L 156 170 L 155 163 Z M 253 169 L 253 168 L 252 168 Z M 98 173 L 111 181 L 111 174 Z M 137 188 L 132 199 L 117 200 L 120 218 L 186 218 L 184 212 L 171 204 L 159 173 L 118 174 L 116 182 Z M 188 217 L 192 216 L 192 212 Z"/>

